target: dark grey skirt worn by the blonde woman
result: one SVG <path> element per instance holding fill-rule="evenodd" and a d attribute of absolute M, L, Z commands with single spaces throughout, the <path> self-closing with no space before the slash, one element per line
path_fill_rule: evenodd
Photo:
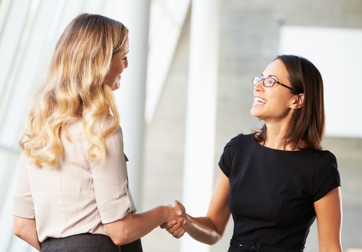
<path fill-rule="evenodd" d="M 90 233 L 64 238 L 48 237 L 41 244 L 42 252 L 121 252 L 121 247 L 106 235 Z"/>

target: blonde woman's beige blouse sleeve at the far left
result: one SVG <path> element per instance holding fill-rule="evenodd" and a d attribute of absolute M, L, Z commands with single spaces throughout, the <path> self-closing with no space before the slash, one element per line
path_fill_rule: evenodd
<path fill-rule="evenodd" d="M 24 154 L 21 154 L 20 158 L 13 215 L 25 219 L 35 219 L 33 197 L 31 197 L 28 174 L 26 173 L 26 158 Z"/>

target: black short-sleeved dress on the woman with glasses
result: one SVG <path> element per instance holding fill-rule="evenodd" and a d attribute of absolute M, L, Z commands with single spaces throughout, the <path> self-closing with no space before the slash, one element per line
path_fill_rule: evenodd
<path fill-rule="evenodd" d="M 341 184 L 331 152 L 275 150 L 252 134 L 231 139 L 219 166 L 230 182 L 232 239 L 299 251 L 316 218 L 313 202 Z"/>

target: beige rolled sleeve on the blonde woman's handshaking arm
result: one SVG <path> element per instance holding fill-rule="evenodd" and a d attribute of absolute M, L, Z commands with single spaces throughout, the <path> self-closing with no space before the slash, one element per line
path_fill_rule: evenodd
<path fill-rule="evenodd" d="M 105 139 L 105 146 L 106 157 L 101 163 L 91 165 L 91 175 L 102 223 L 110 223 L 136 209 L 128 185 L 121 127 Z"/>

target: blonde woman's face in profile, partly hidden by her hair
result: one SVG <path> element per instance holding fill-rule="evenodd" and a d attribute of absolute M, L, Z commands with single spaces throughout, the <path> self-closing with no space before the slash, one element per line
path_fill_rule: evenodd
<path fill-rule="evenodd" d="M 128 67 L 127 53 L 129 51 L 128 38 L 126 39 L 123 49 L 112 56 L 111 66 L 109 72 L 106 75 L 104 81 L 112 91 L 117 90 L 120 87 L 119 81 L 121 80 L 121 74 L 125 68 Z"/>

